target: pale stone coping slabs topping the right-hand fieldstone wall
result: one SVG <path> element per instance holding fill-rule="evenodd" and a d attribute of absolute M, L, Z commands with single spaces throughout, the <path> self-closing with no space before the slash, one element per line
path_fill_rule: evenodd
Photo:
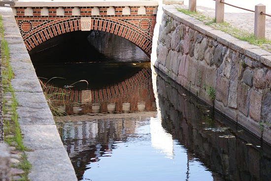
<path fill-rule="evenodd" d="M 236 50 L 237 52 L 244 54 L 254 60 L 257 60 L 269 67 L 271 67 L 271 53 L 263 50 L 262 48 L 251 45 L 246 41 L 239 40 L 230 34 L 227 34 L 221 30 L 214 30 L 213 28 L 203 25 L 203 23 L 189 15 L 185 15 L 176 9 L 176 5 L 164 5 L 164 13 L 174 18 L 175 20 L 183 23 L 195 30 L 198 30 L 206 36 L 210 36 L 217 40 L 219 43 L 228 46 Z"/>

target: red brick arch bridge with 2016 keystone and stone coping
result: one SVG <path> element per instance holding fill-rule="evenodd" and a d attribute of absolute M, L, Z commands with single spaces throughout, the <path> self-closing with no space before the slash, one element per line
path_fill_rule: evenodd
<path fill-rule="evenodd" d="M 16 1 L 13 9 L 27 50 L 78 30 L 102 30 L 124 37 L 151 54 L 158 1 Z"/>

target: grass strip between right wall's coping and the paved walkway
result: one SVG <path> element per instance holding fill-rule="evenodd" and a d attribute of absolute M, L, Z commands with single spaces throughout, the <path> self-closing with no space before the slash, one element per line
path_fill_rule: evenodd
<path fill-rule="evenodd" d="M 215 18 L 211 19 L 209 16 L 205 16 L 199 12 L 191 12 L 188 9 L 181 9 L 178 7 L 177 7 L 177 10 L 186 14 L 186 15 L 194 17 L 195 19 L 203 22 L 207 26 L 214 28 L 215 30 L 224 31 L 224 32 L 236 37 L 239 40 L 247 41 L 252 45 L 259 46 L 259 47 L 265 49 L 266 51 L 271 52 L 271 47 L 270 47 L 271 40 L 269 40 L 269 39 L 266 39 L 266 38 L 265 39 L 257 39 L 253 33 L 249 33 L 247 31 L 237 29 L 237 28 L 231 26 L 227 22 L 216 23 Z M 265 45 L 269 45 L 269 46 L 265 46 Z"/>

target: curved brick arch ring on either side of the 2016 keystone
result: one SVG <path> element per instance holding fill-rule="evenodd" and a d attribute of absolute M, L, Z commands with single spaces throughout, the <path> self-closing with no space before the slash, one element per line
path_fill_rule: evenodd
<path fill-rule="evenodd" d="M 142 22 L 142 21 L 141 21 Z M 151 27 L 151 20 L 145 19 L 144 23 L 149 23 Z M 19 24 L 20 25 L 20 24 Z M 113 19 L 110 17 L 93 17 L 91 30 L 102 30 L 121 36 L 135 45 L 137 45 L 146 54 L 151 54 L 152 35 L 146 33 L 146 30 L 136 26 L 124 19 Z M 19 27 L 23 35 L 24 42 L 28 51 L 32 50 L 37 45 L 53 38 L 57 35 L 64 34 L 71 31 L 80 30 L 80 18 L 60 18 L 57 20 L 46 21 L 38 25 L 34 30 L 24 31 Z"/>

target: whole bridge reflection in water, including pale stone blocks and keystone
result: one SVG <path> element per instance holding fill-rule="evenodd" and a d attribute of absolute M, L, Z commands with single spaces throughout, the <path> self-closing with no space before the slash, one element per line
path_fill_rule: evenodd
<path fill-rule="evenodd" d="M 47 87 L 44 91 L 47 94 L 59 92 L 53 99 L 60 100 L 59 108 L 68 115 L 156 111 L 150 68 L 143 68 L 131 78 L 99 90 Z"/>

